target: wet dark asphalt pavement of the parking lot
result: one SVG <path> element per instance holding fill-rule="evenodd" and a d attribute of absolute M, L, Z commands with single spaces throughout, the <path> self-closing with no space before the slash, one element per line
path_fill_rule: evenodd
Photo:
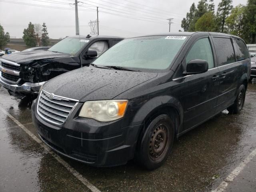
<path fill-rule="evenodd" d="M 38 137 L 30 108 L 31 102 L 0 91 L 0 192 L 90 191 L 10 118 Z M 60 157 L 102 192 L 194 192 L 214 190 L 255 149 L 256 84 L 249 83 L 241 114 L 225 110 L 184 134 L 157 170 L 144 170 L 133 161 L 95 168 Z M 224 191 L 256 192 L 256 156 Z"/>

